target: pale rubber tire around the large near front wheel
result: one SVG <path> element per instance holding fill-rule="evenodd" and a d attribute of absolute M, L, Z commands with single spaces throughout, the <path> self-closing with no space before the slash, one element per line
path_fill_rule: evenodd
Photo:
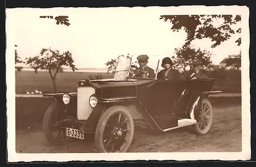
<path fill-rule="evenodd" d="M 105 128 L 106 121 L 108 121 L 108 119 L 116 112 L 122 112 L 123 114 L 127 115 L 129 117 L 129 121 L 131 124 L 131 136 L 130 136 L 129 142 L 127 143 L 125 149 L 122 150 L 122 152 L 127 152 L 127 150 L 132 144 L 133 136 L 134 136 L 133 116 L 129 113 L 129 111 L 124 106 L 115 105 L 106 109 L 98 121 L 96 131 L 95 131 L 95 148 L 98 152 L 102 152 L 102 153 L 107 152 L 103 145 L 103 139 L 102 139 L 103 130 Z"/>

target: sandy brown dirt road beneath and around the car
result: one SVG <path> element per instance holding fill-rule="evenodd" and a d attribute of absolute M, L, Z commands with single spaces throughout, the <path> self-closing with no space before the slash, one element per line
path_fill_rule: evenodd
<path fill-rule="evenodd" d="M 161 134 L 135 129 L 129 152 L 239 152 L 242 151 L 241 105 L 214 107 L 214 121 L 209 133 L 198 136 L 188 128 Z M 41 131 L 16 132 L 17 153 L 95 152 L 92 141 L 75 141 L 52 147 Z"/>

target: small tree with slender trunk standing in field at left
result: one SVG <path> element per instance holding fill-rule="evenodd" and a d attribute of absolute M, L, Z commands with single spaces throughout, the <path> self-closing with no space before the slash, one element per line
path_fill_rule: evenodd
<path fill-rule="evenodd" d="M 60 53 L 58 50 L 51 50 L 51 48 L 42 48 L 40 55 L 26 58 L 26 60 L 26 64 L 29 64 L 30 67 L 34 69 L 35 73 L 37 73 L 38 69 L 48 70 L 53 82 L 54 92 L 57 92 L 56 76 L 58 72 L 61 72 L 62 66 L 71 67 L 73 72 L 78 70 L 73 64 L 74 60 L 70 51 Z"/>

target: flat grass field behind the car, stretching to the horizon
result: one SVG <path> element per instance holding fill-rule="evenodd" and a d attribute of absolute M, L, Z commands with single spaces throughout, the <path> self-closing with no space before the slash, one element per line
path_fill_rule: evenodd
<path fill-rule="evenodd" d="M 56 85 L 58 92 L 76 92 L 78 80 L 87 79 L 90 75 L 96 76 L 96 72 L 63 72 L 58 73 L 56 77 Z M 113 78 L 111 73 L 99 73 L 103 78 Z M 26 93 L 26 91 L 33 92 L 35 89 L 42 91 L 42 93 L 51 93 L 53 84 L 48 72 L 39 71 L 36 74 L 33 71 L 22 71 L 16 76 L 16 93 Z M 221 80 L 216 79 L 215 86 L 212 90 L 219 90 L 226 93 L 240 93 L 241 79 L 236 80 Z"/>

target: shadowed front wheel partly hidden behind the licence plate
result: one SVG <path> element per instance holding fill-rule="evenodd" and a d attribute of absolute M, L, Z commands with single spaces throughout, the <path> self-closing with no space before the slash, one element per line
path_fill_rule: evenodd
<path fill-rule="evenodd" d="M 66 145 L 73 142 L 73 138 L 66 136 L 66 129 L 55 127 L 56 103 L 52 103 L 47 109 L 42 121 L 42 131 L 48 142 L 53 146 Z"/>

